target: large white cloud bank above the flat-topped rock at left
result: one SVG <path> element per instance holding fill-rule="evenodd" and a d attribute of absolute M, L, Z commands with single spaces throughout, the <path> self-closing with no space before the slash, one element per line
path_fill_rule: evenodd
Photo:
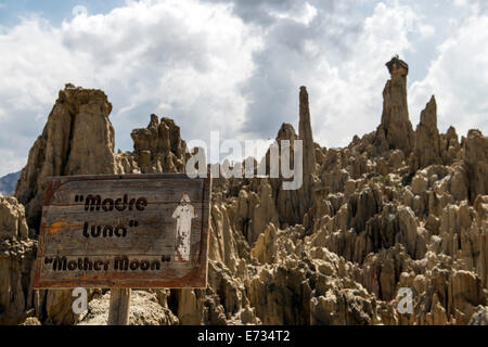
<path fill-rule="evenodd" d="M 246 106 L 239 85 L 258 46 L 227 5 L 192 0 L 130 2 L 61 27 L 25 18 L 0 31 L 0 49 L 9 52 L 0 55 L 0 147 L 25 160 L 65 82 L 107 93 L 125 150 L 151 113 L 175 118 L 187 139 L 206 140 L 210 129 L 234 137 Z M 3 165 L 0 175 L 11 169 Z"/>

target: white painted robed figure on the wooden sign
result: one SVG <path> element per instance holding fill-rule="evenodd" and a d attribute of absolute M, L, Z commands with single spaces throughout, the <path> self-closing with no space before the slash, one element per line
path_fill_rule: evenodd
<path fill-rule="evenodd" d="M 172 218 L 177 220 L 176 230 L 176 259 L 188 261 L 190 259 L 190 235 L 192 231 L 192 219 L 196 218 L 196 211 L 190 204 L 190 196 L 183 193 L 180 204 L 172 213 Z"/>

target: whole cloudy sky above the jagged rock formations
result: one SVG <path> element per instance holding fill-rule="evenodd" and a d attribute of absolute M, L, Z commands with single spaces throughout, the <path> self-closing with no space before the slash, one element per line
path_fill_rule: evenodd
<path fill-rule="evenodd" d="M 440 131 L 488 132 L 486 0 L 0 0 L 0 176 L 21 169 L 66 82 L 103 89 L 116 146 L 151 113 L 185 140 L 297 128 L 347 145 L 381 119 L 385 62 L 410 65 L 413 127 L 432 94 Z"/>

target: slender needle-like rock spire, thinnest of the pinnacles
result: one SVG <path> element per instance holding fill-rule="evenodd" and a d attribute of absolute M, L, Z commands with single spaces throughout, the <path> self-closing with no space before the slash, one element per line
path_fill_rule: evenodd
<path fill-rule="evenodd" d="M 304 145 L 304 184 L 301 188 L 303 196 L 300 198 L 304 203 L 300 206 L 300 217 L 303 218 L 312 204 L 313 194 L 311 183 L 313 182 L 312 174 L 316 166 L 316 150 L 310 125 L 308 93 L 305 87 L 300 87 L 299 103 L 298 138 L 303 141 Z"/>

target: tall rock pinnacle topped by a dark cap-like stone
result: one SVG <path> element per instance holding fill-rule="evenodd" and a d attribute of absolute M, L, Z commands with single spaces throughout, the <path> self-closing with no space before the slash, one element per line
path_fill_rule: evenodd
<path fill-rule="evenodd" d="M 380 152 L 401 150 L 409 155 L 413 149 L 414 134 L 409 119 L 407 103 L 407 75 L 409 66 L 394 56 L 386 63 L 391 78 L 383 90 L 382 123 L 376 130 Z"/>

